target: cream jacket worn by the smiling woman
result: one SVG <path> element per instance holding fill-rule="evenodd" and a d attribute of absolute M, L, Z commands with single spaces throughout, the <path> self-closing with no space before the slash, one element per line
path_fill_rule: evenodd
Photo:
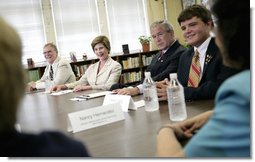
<path fill-rule="evenodd" d="M 74 88 L 76 85 L 85 84 L 92 86 L 92 89 L 109 90 L 113 84 L 118 83 L 122 70 L 120 63 L 109 57 L 99 73 L 98 68 L 99 61 L 90 65 L 80 80 L 66 86 Z"/>

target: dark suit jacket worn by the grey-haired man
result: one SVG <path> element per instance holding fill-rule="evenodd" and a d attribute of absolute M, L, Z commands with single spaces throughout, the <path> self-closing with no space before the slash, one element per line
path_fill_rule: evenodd
<path fill-rule="evenodd" d="M 158 52 L 152 59 L 146 71 L 151 72 L 154 81 L 161 81 L 169 78 L 170 73 L 176 73 L 179 63 L 179 58 L 186 49 L 178 42 L 169 47 L 169 49 L 161 57 Z"/>

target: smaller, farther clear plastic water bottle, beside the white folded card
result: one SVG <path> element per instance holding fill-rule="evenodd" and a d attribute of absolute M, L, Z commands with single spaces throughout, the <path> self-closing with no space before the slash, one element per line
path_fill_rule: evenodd
<path fill-rule="evenodd" d="M 150 72 L 145 72 L 144 75 L 143 97 L 145 102 L 145 111 L 156 111 L 159 109 L 156 85 L 151 78 Z"/>

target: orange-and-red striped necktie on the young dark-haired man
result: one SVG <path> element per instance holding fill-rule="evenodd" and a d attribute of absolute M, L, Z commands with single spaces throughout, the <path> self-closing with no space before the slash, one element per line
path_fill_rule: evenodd
<path fill-rule="evenodd" d="M 189 71 L 188 87 L 198 87 L 200 81 L 200 62 L 199 62 L 199 52 L 196 50 Z"/>

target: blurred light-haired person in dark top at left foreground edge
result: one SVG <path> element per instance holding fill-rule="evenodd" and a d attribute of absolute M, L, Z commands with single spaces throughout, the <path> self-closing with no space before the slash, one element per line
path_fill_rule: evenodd
<path fill-rule="evenodd" d="M 1 157 L 85 157 L 84 145 L 56 131 L 40 134 L 15 129 L 25 79 L 21 63 L 21 40 L 0 18 L 0 156 Z"/>

